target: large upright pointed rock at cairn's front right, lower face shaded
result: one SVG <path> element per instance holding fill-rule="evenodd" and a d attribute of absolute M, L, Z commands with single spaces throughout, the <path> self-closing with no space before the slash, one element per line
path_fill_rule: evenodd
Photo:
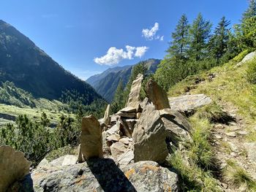
<path fill-rule="evenodd" d="M 167 131 L 159 111 L 155 110 L 153 104 L 148 104 L 132 134 L 135 162 L 165 161 L 168 154 L 166 138 Z"/>

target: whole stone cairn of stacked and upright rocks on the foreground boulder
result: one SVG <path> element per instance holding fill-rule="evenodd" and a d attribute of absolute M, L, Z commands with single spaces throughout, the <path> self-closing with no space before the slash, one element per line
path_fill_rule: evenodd
<path fill-rule="evenodd" d="M 113 158 L 119 166 L 137 161 L 162 163 L 172 147 L 190 140 L 190 126 L 180 112 L 170 110 L 167 93 L 154 80 L 146 85 L 147 98 L 140 101 L 143 75 L 132 82 L 126 107 L 104 118 L 82 121 L 78 162 L 91 157 Z"/>

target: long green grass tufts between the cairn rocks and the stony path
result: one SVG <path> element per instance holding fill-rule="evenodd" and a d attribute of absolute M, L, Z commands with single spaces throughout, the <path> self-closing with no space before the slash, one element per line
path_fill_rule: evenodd
<path fill-rule="evenodd" d="M 184 191 L 222 191 L 214 178 L 214 153 L 211 147 L 211 129 L 208 119 L 200 119 L 197 114 L 189 118 L 192 126 L 192 142 L 187 143 L 187 151 L 176 150 L 169 157 L 183 181 Z"/>

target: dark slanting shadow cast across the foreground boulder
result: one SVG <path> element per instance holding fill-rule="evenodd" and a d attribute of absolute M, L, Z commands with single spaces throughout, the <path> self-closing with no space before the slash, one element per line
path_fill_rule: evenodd
<path fill-rule="evenodd" d="M 137 192 L 113 159 L 91 158 L 86 162 L 105 192 Z"/>

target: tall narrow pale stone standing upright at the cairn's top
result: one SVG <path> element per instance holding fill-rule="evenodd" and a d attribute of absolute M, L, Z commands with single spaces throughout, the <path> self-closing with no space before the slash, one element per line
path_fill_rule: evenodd
<path fill-rule="evenodd" d="M 136 80 L 132 82 L 132 87 L 129 93 L 129 99 L 127 101 L 126 107 L 138 108 L 138 104 L 140 104 L 140 88 L 142 81 L 143 74 L 138 74 Z"/>

